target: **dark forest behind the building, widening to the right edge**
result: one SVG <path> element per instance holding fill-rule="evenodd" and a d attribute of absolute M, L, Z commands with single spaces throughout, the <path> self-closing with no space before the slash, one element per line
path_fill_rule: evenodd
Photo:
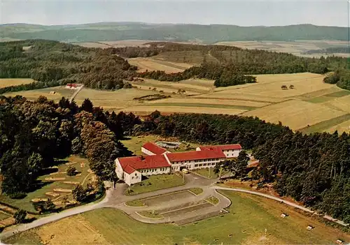
<path fill-rule="evenodd" d="M 335 218 L 350 222 L 350 135 L 302 135 L 281 124 L 253 117 L 153 112 L 135 134 L 176 136 L 202 144 L 239 143 L 253 149 L 260 167 L 254 179 L 274 184 L 286 195 Z"/>

